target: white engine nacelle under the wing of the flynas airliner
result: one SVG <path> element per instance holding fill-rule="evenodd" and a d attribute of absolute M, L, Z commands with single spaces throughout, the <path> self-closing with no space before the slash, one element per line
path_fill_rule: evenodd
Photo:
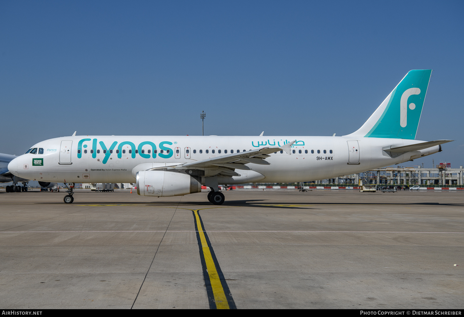
<path fill-rule="evenodd" d="M 141 196 L 180 196 L 201 192 L 200 182 L 187 174 L 171 171 L 139 171 L 137 194 Z"/>

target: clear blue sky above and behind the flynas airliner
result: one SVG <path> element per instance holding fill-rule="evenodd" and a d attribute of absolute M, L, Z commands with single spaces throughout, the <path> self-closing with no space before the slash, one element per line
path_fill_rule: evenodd
<path fill-rule="evenodd" d="M 464 164 L 463 1 L 2 1 L 0 152 L 77 134 L 343 135 L 430 69 L 417 139 Z"/>

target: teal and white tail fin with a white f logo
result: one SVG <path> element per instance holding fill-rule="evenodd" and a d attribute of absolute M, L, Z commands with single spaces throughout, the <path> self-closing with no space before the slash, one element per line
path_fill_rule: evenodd
<path fill-rule="evenodd" d="M 410 70 L 353 137 L 415 139 L 432 70 Z"/>

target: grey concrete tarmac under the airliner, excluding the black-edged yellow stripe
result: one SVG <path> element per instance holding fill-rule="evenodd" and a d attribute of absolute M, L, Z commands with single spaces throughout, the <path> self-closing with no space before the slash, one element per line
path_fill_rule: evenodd
<path fill-rule="evenodd" d="M 1 191 L 0 307 L 209 308 L 202 209 L 238 309 L 464 308 L 464 192 L 223 193 Z"/>

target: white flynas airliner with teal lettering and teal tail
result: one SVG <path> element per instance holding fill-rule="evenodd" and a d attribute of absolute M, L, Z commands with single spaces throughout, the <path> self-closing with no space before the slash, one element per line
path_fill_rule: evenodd
<path fill-rule="evenodd" d="M 137 183 L 142 196 L 179 196 L 219 184 L 335 178 L 440 152 L 451 140 L 415 140 L 432 70 L 411 70 L 354 133 L 335 136 L 76 136 L 48 139 L 13 159 L 21 178 Z M 44 149 L 38 154 L 38 149 Z M 72 187 L 64 197 L 72 203 Z"/>

